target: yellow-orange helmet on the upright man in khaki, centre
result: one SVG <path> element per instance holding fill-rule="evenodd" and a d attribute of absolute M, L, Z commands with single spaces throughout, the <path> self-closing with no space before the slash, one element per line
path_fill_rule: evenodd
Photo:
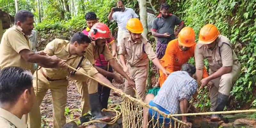
<path fill-rule="evenodd" d="M 143 26 L 138 18 L 132 18 L 127 21 L 126 28 L 132 33 L 142 33 Z"/>

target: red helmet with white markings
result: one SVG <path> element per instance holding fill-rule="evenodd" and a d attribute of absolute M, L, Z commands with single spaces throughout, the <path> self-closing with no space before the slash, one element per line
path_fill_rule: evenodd
<path fill-rule="evenodd" d="M 88 34 L 88 36 L 90 36 L 92 40 L 108 39 L 110 38 L 110 35 L 111 32 L 108 26 L 104 23 L 94 24 Z"/>

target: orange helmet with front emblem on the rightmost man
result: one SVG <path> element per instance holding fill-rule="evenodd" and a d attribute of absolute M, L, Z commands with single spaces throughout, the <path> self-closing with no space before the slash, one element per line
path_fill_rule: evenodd
<path fill-rule="evenodd" d="M 198 43 L 211 44 L 219 35 L 219 30 L 213 24 L 206 24 L 199 32 Z"/>

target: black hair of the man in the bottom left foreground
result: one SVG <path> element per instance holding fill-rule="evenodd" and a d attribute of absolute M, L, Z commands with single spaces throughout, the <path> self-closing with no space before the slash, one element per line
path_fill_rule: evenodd
<path fill-rule="evenodd" d="M 16 103 L 20 95 L 28 89 L 31 93 L 33 75 L 21 67 L 6 67 L 0 70 L 0 102 Z"/>

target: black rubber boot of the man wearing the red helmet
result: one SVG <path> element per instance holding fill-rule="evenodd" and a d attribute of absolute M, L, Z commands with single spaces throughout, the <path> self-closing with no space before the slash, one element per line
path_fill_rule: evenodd
<path fill-rule="evenodd" d="M 110 122 L 111 121 L 110 117 L 102 115 L 98 92 L 89 94 L 89 100 L 90 100 L 90 109 L 91 109 L 91 114 L 92 114 L 92 120 L 99 120 L 102 122 Z M 99 123 L 97 127 L 104 128 L 104 127 L 106 127 L 106 125 L 107 125 L 106 123 Z"/>

